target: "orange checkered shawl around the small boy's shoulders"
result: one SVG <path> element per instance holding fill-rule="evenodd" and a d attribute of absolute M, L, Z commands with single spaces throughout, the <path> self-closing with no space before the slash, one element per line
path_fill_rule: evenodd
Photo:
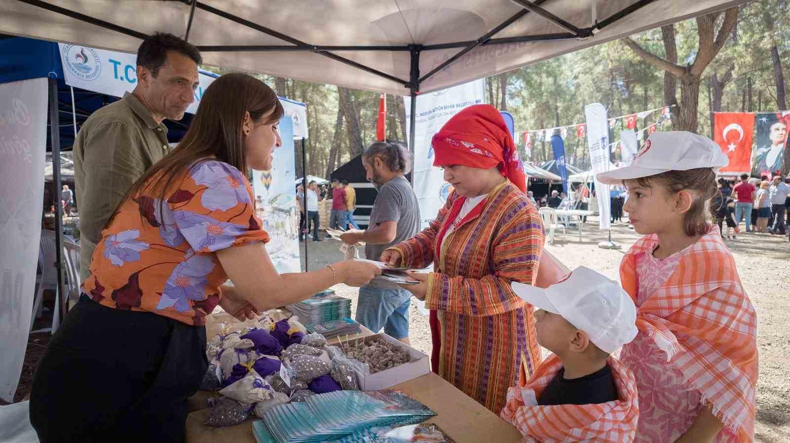
<path fill-rule="evenodd" d="M 618 359 L 609 357 L 618 400 L 601 404 L 560 404 L 539 406 L 537 399 L 562 368 L 559 357 L 551 354 L 535 375 L 525 381 L 521 371 L 519 385 L 507 391 L 507 404 L 500 416 L 516 426 L 525 441 L 634 441 L 639 419 L 639 404 L 634 374 Z"/>

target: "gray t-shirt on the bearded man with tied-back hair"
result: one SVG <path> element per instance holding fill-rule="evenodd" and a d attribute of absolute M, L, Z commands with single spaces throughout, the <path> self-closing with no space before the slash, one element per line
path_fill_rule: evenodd
<path fill-rule="evenodd" d="M 395 240 L 389 244 L 366 244 L 365 256 L 369 260 L 381 259 L 386 248 L 408 240 L 419 232 L 419 203 L 412 184 L 404 177 L 393 178 L 378 190 L 371 210 L 370 226 L 385 221 L 397 221 Z"/>

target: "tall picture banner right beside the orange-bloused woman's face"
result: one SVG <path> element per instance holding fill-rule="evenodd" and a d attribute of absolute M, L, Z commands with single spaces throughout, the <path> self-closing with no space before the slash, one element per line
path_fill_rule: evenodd
<path fill-rule="evenodd" d="M 272 169 L 253 170 L 255 211 L 269 233 L 266 251 L 277 272 L 300 272 L 299 209 L 296 205 L 296 162 L 294 157 L 293 121 L 280 120 L 281 147 L 274 150 Z"/>

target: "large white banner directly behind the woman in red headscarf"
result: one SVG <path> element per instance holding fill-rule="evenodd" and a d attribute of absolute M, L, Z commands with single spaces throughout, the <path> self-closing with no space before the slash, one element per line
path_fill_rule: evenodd
<path fill-rule="evenodd" d="M 419 201 L 419 229 L 427 228 L 428 223 L 436 218 L 436 214 L 447 201 L 447 195 L 452 191 L 452 186 L 444 181 L 442 169 L 433 166 L 431 138 L 453 115 L 466 106 L 485 103 L 485 89 L 485 79 L 480 79 L 417 96 L 412 188 Z M 407 128 L 411 128 L 411 103 L 412 98 L 405 96 Z M 408 136 L 407 134 L 407 143 L 410 143 Z"/>

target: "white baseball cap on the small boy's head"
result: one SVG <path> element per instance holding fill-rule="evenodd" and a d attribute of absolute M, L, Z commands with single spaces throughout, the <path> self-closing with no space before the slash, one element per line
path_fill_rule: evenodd
<path fill-rule="evenodd" d="M 547 289 L 513 281 L 513 292 L 534 307 L 562 315 L 604 352 L 637 336 L 637 308 L 616 281 L 579 266 Z"/>

